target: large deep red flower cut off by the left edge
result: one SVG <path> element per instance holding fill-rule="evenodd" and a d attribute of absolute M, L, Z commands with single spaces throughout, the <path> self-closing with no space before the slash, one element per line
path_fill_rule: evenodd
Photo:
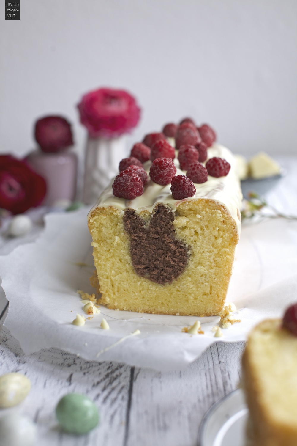
<path fill-rule="evenodd" d="M 22 214 L 30 207 L 38 206 L 45 192 L 44 178 L 25 161 L 11 155 L 0 155 L 0 208 Z"/>

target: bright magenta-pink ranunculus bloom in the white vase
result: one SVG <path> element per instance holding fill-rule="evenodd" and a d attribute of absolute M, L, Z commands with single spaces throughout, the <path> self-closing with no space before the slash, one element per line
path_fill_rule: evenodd
<path fill-rule="evenodd" d="M 128 133 L 140 117 L 140 108 L 133 96 L 124 90 L 99 88 L 84 95 L 77 105 L 81 124 L 90 136 L 107 138 Z"/>

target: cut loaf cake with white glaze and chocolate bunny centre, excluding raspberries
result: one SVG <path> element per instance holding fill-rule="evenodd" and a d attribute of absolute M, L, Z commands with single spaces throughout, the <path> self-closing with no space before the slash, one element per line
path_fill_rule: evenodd
<path fill-rule="evenodd" d="M 151 135 L 160 134 L 148 135 L 154 139 Z M 144 142 L 151 144 L 154 153 L 157 143 L 148 136 Z M 177 138 L 171 144 L 174 141 Z M 163 146 L 168 149 L 168 143 Z M 171 149 L 173 156 L 168 155 Z M 177 150 L 166 150 L 166 160 L 175 165 L 174 178 L 184 181 L 186 171 L 180 169 Z M 179 150 L 181 154 L 181 146 Z M 242 195 L 232 153 L 213 143 L 207 149 L 207 159 L 212 157 L 230 164 L 228 174 L 216 178 L 207 177 L 206 172 L 204 182 L 194 183 L 187 198 L 173 197 L 174 179 L 166 185 L 150 179 L 142 186 L 143 193 L 133 199 L 114 196 L 116 180 L 101 194 L 89 213 L 88 226 L 103 305 L 151 314 L 220 313 L 240 235 Z M 153 157 L 144 159 L 149 175 Z"/>

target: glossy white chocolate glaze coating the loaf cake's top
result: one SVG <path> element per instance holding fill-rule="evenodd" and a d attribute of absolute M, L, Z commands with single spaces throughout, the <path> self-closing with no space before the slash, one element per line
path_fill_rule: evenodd
<path fill-rule="evenodd" d="M 236 169 L 236 159 L 229 149 L 220 144 L 212 145 L 212 147 L 207 150 L 207 154 L 207 159 L 212 157 L 224 158 L 231 165 L 231 168 L 228 175 L 225 177 L 215 178 L 208 175 L 207 182 L 202 184 L 195 183 L 196 193 L 193 197 L 184 198 L 183 200 L 175 200 L 171 194 L 171 184 L 161 186 L 150 180 L 144 186 L 143 194 L 140 197 L 134 198 L 134 200 L 126 200 L 125 198 L 114 197 L 112 193 L 112 184 L 114 180 L 112 180 L 110 185 L 102 192 L 98 198 L 98 202 L 93 206 L 91 211 L 93 211 L 96 207 L 113 206 L 121 211 L 124 211 L 126 207 L 131 207 L 137 212 L 141 212 L 143 210 L 148 210 L 151 212 L 153 211 L 156 203 L 159 202 L 171 206 L 173 211 L 175 211 L 176 207 L 183 201 L 194 200 L 195 198 L 208 198 L 222 204 L 225 207 L 225 209 L 234 219 L 237 231 L 240 233 L 240 207 L 242 194 Z M 184 170 L 179 169 L 177 153 L 174 163 L 176 166 L 176 175 L 186 175 Z M 146 161 L 143 165 L 148 175 L 151 164 L 151 161 Z M 203 164 L 205 165 L 205 163 Z"/>

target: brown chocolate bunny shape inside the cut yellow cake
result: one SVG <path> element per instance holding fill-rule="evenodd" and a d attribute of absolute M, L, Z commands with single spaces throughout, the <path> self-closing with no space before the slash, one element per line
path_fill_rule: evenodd
<path fill-rule="evenodd" d="M 139 276 L 164 285 L 183 273 L 189 248 L 175 238 L 170 206 L 158 203 L 148 224 L 131 208 L 125 210 L 123 220 L 130 235 L 132 264 Z"/>

